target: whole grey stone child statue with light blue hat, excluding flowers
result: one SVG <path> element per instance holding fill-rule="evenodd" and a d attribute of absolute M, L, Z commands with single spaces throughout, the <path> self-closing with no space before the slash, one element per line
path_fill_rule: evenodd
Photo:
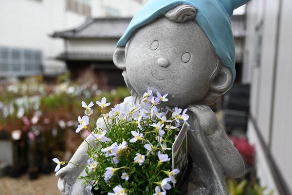
<path fill-rule="evenodd" d="M 235 52 L 229 17 L 247 1 L 149 0 L 113 55 L 132 95 L 122 106 L 139 101 L 150 87 L 169 94 L 165 106 L 188 108 L 193 167 L 187 195 L 227 195 L 224 175 L 239 177 L 244 172 L 241 156 L 208 105 L 233 84 Z M 97 125 L 106 129 L 101 119 Z M 86 165 L 87 147 L 82 143 L 70 161 Z M 77 179 L 82 175 L 84 168 L 68 164 L 56 173 L 58 189 L 64 195 L 90 195 L 91 186 Z"/>

